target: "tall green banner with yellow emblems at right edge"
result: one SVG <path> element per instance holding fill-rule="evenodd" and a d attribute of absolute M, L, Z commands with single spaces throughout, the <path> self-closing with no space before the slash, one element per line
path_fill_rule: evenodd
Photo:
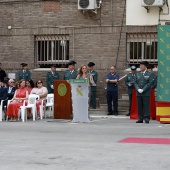
<path fill-rule="evenodd" d="M 158 26 L 157 101 L 170 101 L 170 26 Z"/>

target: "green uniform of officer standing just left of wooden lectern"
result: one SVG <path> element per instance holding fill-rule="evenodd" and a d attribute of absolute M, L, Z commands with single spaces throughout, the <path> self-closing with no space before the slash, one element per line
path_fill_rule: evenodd
<path fill-rule="evenodd" d="M 60 76 L 57 72 L 48 72 L 46 76 L 46 83 L 47 83 L 47 89 L 48 93 L 54 93 L 54 89 L 51 88 L 51 85 L 54 86 L 54 80 L 59 80 Z"/>

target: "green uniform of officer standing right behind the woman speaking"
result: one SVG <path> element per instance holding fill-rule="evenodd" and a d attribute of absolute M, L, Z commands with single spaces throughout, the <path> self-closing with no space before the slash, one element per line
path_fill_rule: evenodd
<path fill-rule="evenodd" d="M 93 81 L 95 83 L 95 85 L 90 86 L 90 92 L 91 92 L 90 102 L 92 104 L 93 109 L 96 109 L 96 84 L 97 84 L 98 74 L 94 70 L 89 71 L 89 74 L 93 76 Z"/>

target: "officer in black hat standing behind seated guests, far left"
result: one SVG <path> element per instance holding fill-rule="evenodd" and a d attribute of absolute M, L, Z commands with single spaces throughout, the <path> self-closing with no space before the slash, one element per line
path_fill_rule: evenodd
<path fill-rule="evenodd" d="M 24 80 L 29 80 L 31 79 L 31 73 L 28 70 L 28 64 L 26 63 L 21 63 L 22 70 L 19 70 L 18 72 L 18 80 L 24 79 Z"/>

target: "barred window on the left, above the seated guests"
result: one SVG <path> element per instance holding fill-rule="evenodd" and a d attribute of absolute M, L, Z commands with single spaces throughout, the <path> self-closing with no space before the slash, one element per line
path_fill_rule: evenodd
<path fill-rule="evenodd" d="M 40 67 L 57 63 L 60 67 L 69 61 L 68 35 L 48 35 L 35 37 L 35 60 Z"/>

